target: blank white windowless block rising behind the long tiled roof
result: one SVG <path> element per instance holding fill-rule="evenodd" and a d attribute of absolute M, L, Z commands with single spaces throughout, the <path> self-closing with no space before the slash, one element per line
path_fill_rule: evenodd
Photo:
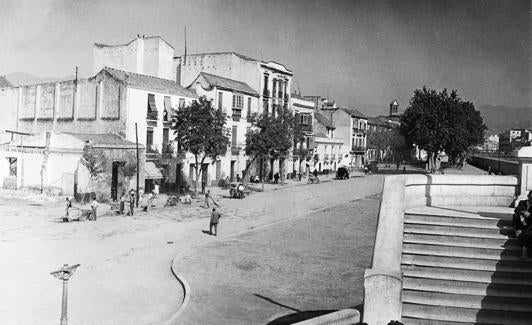
<path fill-rule="evenodd" d="M 95 43 L 93 73 L 105 67 L 175 81 L 174 48 L 160 36 L 140 36 L 122 45 Z"/>

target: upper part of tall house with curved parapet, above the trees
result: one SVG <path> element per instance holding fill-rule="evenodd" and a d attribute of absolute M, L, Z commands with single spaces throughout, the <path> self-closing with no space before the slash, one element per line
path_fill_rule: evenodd
<path fill-rule="evenodd" d="M 259 94 L 261 103 L 252 113 L 276 114 L 288 107 L 292 71 L 276 62 L 259 61 L 234 52 L 182 55 L 174 58 L 176 81 L 189 87 L 201 72 L 243 82 Z"/>

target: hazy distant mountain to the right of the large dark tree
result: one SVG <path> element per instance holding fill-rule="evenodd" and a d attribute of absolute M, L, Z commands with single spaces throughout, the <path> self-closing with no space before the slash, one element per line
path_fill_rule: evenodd
<path fill-rule="evenodd" d="M 484 105 L 476 109 L 488 127 L 487 134 L 498 134 L 512 128 L 532 129 L 532 107 Z"/>

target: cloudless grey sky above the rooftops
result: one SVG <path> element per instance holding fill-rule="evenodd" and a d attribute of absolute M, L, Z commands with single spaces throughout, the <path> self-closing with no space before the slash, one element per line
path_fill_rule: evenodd
<path fill-rule="evenodd" d="M 294 72 L 293 90 L 381 114 L 416 88 L 532 106 L 531 1 L 0 0 L 0 75 L 92 74 L 93 43 L 159 35 Z"/>

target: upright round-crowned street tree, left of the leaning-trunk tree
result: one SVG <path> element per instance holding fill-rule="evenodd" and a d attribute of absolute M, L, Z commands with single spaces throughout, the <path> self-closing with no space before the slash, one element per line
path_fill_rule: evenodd
<path fill-rule="evenodd" d="M 225 127 L 226 116 L 202 96 L 190 105 L 180 108 L 174 122 L 178 150 L 194 155 L 194 193 L 197 195 L 200 167 L 207 158 L 215 161 L 227 152 L 230 131 Z"/>

